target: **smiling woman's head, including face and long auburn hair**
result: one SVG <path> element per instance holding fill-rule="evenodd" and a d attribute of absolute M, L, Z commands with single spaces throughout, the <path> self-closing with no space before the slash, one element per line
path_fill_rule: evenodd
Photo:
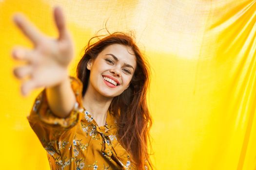
<path fill-rule="evenodd" d="M 151 116 L 146 103 L 149 66 L 131 35 L 117 32 L 94 44 L 90 41 L 77 68 L 84 82 L 84 106 L 93 104 L 89 98 L 110 103 L 107 110 L 117 119 L 118 141 L 140 169 L 144 161 L 151 166 L 147 150 Z"/>

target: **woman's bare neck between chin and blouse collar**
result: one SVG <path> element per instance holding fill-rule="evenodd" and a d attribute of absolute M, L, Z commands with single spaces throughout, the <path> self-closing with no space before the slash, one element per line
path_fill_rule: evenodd
<path fill-rule="evenodd" d="M 102 96 L 88 85 L 82 102 L 83 107 L 92 115 L 98 126 L 104 126 L 106 124 L 107 111 L 112 100 L 113 98 Z"/>

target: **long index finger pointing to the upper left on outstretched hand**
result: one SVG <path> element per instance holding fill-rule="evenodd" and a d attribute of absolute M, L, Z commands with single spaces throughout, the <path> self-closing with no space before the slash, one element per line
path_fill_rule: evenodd
<path fill-rule="evenodd" d="M 23 15 L 16 14 L 13 17 L 15 24 L 20 28 L 23 34 L 25 34 L 35 45 L 39 42 L 42 34 L 39 30 L 29 22 Z"/>

